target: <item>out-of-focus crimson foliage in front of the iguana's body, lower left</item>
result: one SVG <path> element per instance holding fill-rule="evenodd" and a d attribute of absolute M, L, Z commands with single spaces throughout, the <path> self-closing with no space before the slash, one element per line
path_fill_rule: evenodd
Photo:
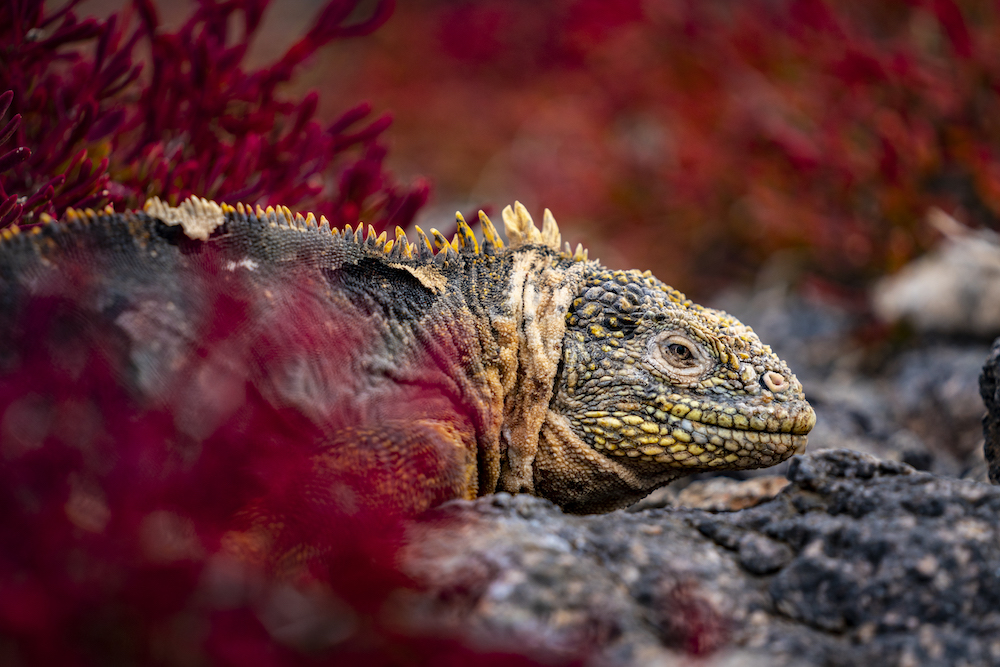
<path fill-rule="evenodd" d="M 378 481 L 328 474 L 336 425 L 264 396 L 241 356 L 213 361 L 242 349 L 249 282 L 206 281 L 204 336 L 137 395 L 143 353 L 89 310 L 87 259 L 0 329 L 0 664 L 536 664 L 407 629 L 416 584 Z M 329 336 L 294 329 L 253 351 Z"/>

